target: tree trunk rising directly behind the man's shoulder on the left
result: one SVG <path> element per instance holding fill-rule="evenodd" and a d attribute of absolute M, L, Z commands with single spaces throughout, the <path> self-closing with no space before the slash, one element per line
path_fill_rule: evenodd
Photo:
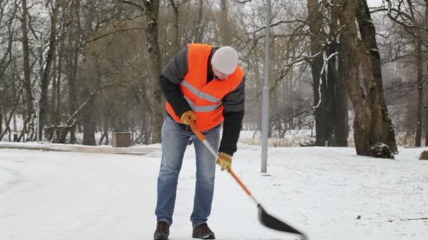
<path fill-rule="evenodd" d="M 158 84 L 158 76 L 161 69 L 161 56 L 158 43 L 158 20 L 159 20 L 159 0 L 144 1 L 146 6 L 146 38 L 147 51 L 149 52 L 148 67 L 150 71 L 150 81 L 153 86 L 153 114 L 151 123 L 153 124 L 152 142 L 160 142 L 160 131 L 162 128 L 163 100 Z"/>

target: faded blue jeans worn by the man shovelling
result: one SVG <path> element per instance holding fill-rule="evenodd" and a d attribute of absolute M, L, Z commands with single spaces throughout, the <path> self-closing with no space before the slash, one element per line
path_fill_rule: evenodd
<path fill-rule="evenodd" d="M 218 149 L 220 126 L 205 131 L 203 134 L 210 145 Z M 190 127 L 178 124 L 168 115 L 165 116 L 162 126 L 162 161 L 158 175 L 158 201 L 155 213 L 158 221 L 165 221 L 172 225 L 178 175 L 182 168 L 184 151 L 189 138 L 194 141 L 196 152 L 196 189 L 193 213 L 190 216 L 193 227 L 196 227 L 205 223 L 211 212 L 215 156 L 196 138 Z"/>

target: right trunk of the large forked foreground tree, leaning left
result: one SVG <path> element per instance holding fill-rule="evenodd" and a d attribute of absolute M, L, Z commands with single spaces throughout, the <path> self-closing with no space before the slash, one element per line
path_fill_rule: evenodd
<path fill-rule="evenodd" d="M 365 59 L 362 61 L 362 67 L 363 73 L 365 73 L 365 81 L 367 81 L 367 94 L 369 95 L 372 115 L 370 143 L 374 145 L 376 142 L 383 142 L 389 146 L 391 152 L 397 152 L 394 126 L 384 99 L 382 68 L 376 42 L 376 31 L 366 0 L 359 0 L 356 15 L 363 44 L 360 57 Z"/>

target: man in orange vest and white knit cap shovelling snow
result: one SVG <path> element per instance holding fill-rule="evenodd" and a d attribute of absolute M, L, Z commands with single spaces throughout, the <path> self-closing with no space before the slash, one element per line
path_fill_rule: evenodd
<path fill-rule="evenodd" d="M 196 152 L 192 237 L 215 239 L 206 222 L 213 203 L 216 159 L 191 132 L 189 121 L 195 121 L 210 145 L 218 148 L 221 169 L 230 168 L 244 117 L 245 74 L 238 66 L 237 51 L 230 46 L 188 44 L 163 69 L 160 88 L 167 103 L 154 239 L 166 240 L 170 234 L 178 175 L 190 138 Z"/>

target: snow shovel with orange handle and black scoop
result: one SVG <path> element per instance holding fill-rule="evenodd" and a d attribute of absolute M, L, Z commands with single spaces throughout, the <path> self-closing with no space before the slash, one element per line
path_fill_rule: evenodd
<path fill-rule="evenodd" d="M 213 154 L 213 156 L 217 157 L 218 156 L 217 152 L 210 145 L 210 143 L 206 140 L 205 136 L 201 133 L 201 131 L 199 131 L 199 129 L 196 127 L 196 124 L 194 123 L 194 121 L 190 120 L 189 124 L 190 124 L 191 131 L 194 132 L 196 137 L 198 137 L 198 139 L 203 143 L 203 145 L 205 145 L 208 148 L 208 150 L 211 152 L 211 154 Z M 265 227 L 269 227 L 270 229 L 275 229 L 277 231 L 288 232 L 291 234 L 298 234 L 298 235 L 300 235 L 299 239 L 301 239 L 301 240 L 307 239 L 306 235 L 303 234 L 302 232 L 298 231 L 294 227 L 287 225 L 287 223 L 282 222 L 281 220 L 279 220 L 279 219 L 273 217 L 272 215 L 270 215 L 269 213 L 267 213 L 265 211 L 265 209 L 261 206 L 261 204 L 257 201 L 257 199 L 251 194 L 251 192 L 248 190 L 248 188 L 244 185 L 244 183 L 242 183 L 242 181 L 234 173 L 234 171 L 232 171 L 231 168 L 228 168 L 227 171 L 230 173 L 230 175 L 232 175 L 232 177 L 235 180 L 237 180 L 238 184 L 242 187 L 242 189 L 244 189 L 244 192 L 246 192 L 246 194 L 248 196 L 250 196 L 250 198 L 253 200 L 253 202 L 257 205 L 257 207 L 258 207 L 258 220 L 260 220 L 260 223 L 262 225 L 264 225 Z"/>

